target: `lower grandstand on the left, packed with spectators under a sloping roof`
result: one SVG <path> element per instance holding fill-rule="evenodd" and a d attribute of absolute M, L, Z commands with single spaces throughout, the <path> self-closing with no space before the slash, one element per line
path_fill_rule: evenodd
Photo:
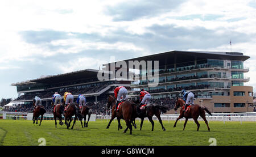
<path fill-rule="evenodd" d="M 131 83 L 117 80 L 99 81 L 97 73 L 98 70 L 86 69 L 13 83 L 11 85 L 17 87 L 19 96 L 12 102 L 23 103 L 22 110 L 29 108 L 28 111 L 31 111 L 32 99 L 39 96 L 42 99 L 42 105 L 50 112 L 52 95 L 59 92 L 63 96 L 64 92 L 68 91 L 73 94 L 74 98 L 77 98 L 79 94 L 85 95 L 87 103 L 93 109 L 96 108 L 94 109 L 96 113 L 101 113 L 104 111 L 102 107 L 106 101 L 106 94 L 113 94 L 114 86 L 125 86 L 129 90 Z M 97 108 L 100 111 L 96 111 Z"/>

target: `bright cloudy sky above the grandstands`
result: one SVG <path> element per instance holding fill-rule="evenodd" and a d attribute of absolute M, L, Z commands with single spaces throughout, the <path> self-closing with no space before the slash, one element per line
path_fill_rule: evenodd
<path fill-rule="evenodd" d="M 171 50 L 242 52 L 256 91 L 256 1 L 0 1 L 0 99 L 11 83 Z"/>

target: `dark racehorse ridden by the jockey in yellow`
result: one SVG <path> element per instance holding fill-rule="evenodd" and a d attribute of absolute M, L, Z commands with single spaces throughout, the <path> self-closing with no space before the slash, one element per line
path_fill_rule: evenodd
<path fill-rule="evenodd" d="M 74 118 L 74 122 L 73 125 L 71 127 L 71 129 L 73 129 L 75 123 L 76 123 L 76 119 L 77 117 L 81 120 L 82 116 L 79 113 L 79 107 L 77 103 L 71 103 L 67 106 L 67 110 L 66 112 L 64 112 L 64 117 L 65 117 L 65 125 L 67 125 L 67 129 L 70 127 L 71 121 L 72 121 L 72 117 L 75 115 Z M 82 126 L 82 128 L 84 128 Z"/>

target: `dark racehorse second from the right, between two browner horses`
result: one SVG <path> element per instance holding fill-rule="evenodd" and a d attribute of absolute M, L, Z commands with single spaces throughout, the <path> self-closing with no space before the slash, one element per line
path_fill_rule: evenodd
<path fill-rule="evenodd" d="M 139 100 L 134 101 L 134 103 L 139 104 Z M 167 107 L 163 107 L 163 106 L 160 106 L 160 105 L 150 105 L 150 104 L 146 105 L 146 107 L 141 109 L 141 113 L 142 113 L 141 116 L 137 116 L 137 117 L 141 118 L 141 129 L 142 129 L 144 118 L 147 117 L 148 120 L 151 122 L 151 125 L 152 125 L 151 131 L 154 131 L 154 125 L 155 124 L 154 124 L 154 121 L 152 120 L 152 117 L 155 115 L 158 118 L 158 120 L 159 120 L 159 122 L 162 126 L 163 131 L 166 131 L 166 128 L 164 128 L 164 126 L 163 126 L 163 122 L 161 120 L 160 114 L 161 114 L 161 111 L 163 113 L 166 113 L 167 110 L 168 110 Z"/>

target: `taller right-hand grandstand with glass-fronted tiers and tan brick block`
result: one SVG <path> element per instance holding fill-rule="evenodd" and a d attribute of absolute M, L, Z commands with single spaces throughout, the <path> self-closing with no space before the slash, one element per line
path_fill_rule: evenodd
<path fill-rule="evenodd" d="M 137 81 L 131 82 L 135 92 L 130 96 L 137 97 L 137 90 L 144 88 L 153 99 L 176 98 L 185 89 L 192 91 L 196 103 L 207 106 L 212 113 L 253 112 L 253 87 L 244 86 L 250 78 L 244 76 L 249 68 L 244 67 L 243 62 L 249 58 L 240 52 L 174 50 L 125 60 L 127 64 L 159 61 L 159 69 L 152 70 L 152 73 L 158 72 L 156 86 L 150 86 L 150 79 L 141 79 L 147 71 L 139 69 Z M 110 64 L 106 65 L 110 67 Z"/>

